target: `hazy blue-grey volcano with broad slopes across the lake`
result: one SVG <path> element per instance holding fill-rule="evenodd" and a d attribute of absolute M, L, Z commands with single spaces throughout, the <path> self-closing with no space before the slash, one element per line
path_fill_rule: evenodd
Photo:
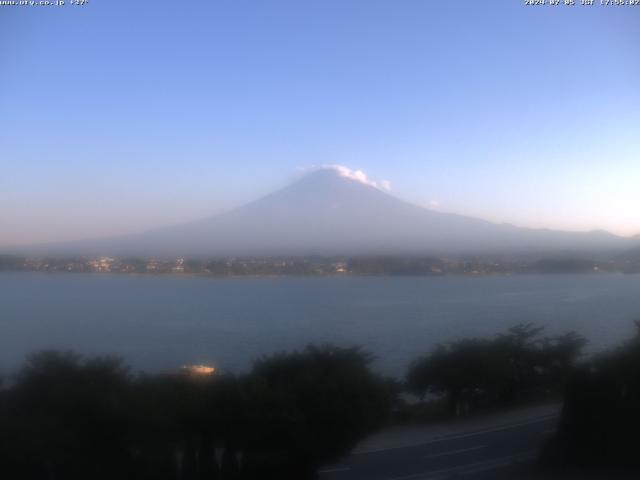
<path fill-rule="evenodd" d="M 599 253 L 634 245 L 640 241 L 603 231 L 518 228 L 433 211 L 325 169 L 225 214 L 137 235 L 44 245 L 27 253 L 146 257 Z"/>

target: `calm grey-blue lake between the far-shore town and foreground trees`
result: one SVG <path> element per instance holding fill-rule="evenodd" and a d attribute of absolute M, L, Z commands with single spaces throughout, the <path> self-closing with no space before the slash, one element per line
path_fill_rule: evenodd
<path fill-rule="evenodd" d="M 246 369 L 309 342 L 364 345 L 401 375 L 437 342 L 517 322 L 574 329 L 590 350 L 640 318 L 640 275 L 236 278 L 0 274 L 0 370 L 41 348 L 124 356 L 136 369 Z"/>

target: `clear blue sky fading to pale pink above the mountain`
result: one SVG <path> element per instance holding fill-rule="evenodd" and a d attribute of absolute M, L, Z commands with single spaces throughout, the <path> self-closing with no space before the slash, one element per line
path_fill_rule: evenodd
<path fill-rule="evenodd" d="M 523 4 L 0 7 L 0 245 L 196 219 L 318 164 L 640 233 L 640 7 Z"/>

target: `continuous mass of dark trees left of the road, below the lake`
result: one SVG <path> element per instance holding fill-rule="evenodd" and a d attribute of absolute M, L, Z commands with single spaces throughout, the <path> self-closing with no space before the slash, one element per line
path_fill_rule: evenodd
<path fill-rule="evenodd" d="M 11 479 L 306 479 L 387 418 L 358 349 L 265 357 L 243 377 L 134 377 L 114 358 L 41 352 L 0 390 Z"/>

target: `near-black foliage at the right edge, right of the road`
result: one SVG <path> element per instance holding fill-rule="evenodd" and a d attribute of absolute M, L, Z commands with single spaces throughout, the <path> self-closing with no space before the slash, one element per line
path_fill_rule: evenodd
<path fill-rule="evenodd" d="M 551 465 L 611 475 L 640 472 L 640 322 L 636 324 L 633 339 L 571 376 L 558 433 L 545 451 Z"/>

